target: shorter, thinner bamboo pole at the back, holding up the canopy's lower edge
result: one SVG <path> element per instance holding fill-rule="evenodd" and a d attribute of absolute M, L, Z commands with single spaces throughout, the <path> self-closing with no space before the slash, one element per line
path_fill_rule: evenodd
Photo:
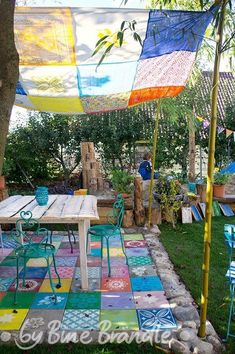
<path fill-rule="evenodd" d="M 152 171 L 151 171 L 151 180 L 149 185 L 149 210 L 148 210 L 148 227 L 151 226 L 152 220 L 152 208 L 153 208 L 153 180 L 154 180 L 154 168 L 156 160 L 156 150 L 157 150 L 157 141 L 158 141 L 158 126 L 161 112 L 161 100 L 158 101 L 157 111 L 155 117 L 155 126 L 153 133 L 153 150 L 152 150 Z"/>

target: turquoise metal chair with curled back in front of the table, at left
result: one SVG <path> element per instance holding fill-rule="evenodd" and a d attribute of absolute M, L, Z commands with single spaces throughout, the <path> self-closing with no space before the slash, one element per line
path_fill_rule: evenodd
<path fill-rule="evenodd" d="M 19 244 L 15 250 L 16 257 L 16 289 L 14 296 L 14 304 L 17 304 L 17 291 L 19 288 L 19 260 L 23 259 L 23 286 L 26 286 L 25 273 L 26 263 L 31 258 L 44 258 L 47 262 L 48 275 L 50 285 L 53 292 L 52 300 L 57 302 L 55 288 L 61 288 L 59 273 L 55 263 L 55 246 L 49 243 L 49 230 L 41 228 L 39 222 L 33 219 L 31 211 L 21 211 L 20 219 L 16 221 L 16 228 L 12 230 L 11 235 Z M 52 257 L 55 273 L 58 277 L 58 283 L 53 284 L 50 270 L 49 259 Z"/>

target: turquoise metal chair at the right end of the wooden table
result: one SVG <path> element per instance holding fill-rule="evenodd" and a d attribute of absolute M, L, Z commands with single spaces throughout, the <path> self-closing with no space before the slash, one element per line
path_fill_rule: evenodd
<path fill-rule="evenodd" d="M 87 233 L 87 244 L 89 242 L 89 236 L 98 236 L 101 239 L 101 257 L 103 258 L 103 246 L 104 239 L 106 241 L 107 247 L 107 260 L 108 260 L 108 276 L 111 276 L 111 266 L 110 266 L 110 253 L 109 253 L 109 239 L 117 234 L 120 235 L 122 250 L 126 257 L 123 238 L 121 234 L 121 226 L 124 217 L 124 200 L 121 194 L 118 194 L 114 204 L 113 210 L 107 215 L 108 224 L 94 225 L 88 229 Z M 127 258 L 126 258 L 127 259 Z"/>

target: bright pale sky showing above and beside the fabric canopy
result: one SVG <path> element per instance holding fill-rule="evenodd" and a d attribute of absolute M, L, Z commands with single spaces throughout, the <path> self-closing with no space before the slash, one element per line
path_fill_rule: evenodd
<path fill-rule="evenodd" d="M 25 1 L 25 0 L 19 0 Z M 235 1 L 235 0 L 234 0 Z M 124 1 L 122 0 L 28 0 L 27 3 L 29 6 L 66 6 L 66 7 L 128 7 L 128 8 L 145 8 L 147 0 L 128 0 L 128 4 L 124 6 Z M 212 70 L 213 65 L 211 66 Z M 228 70 L 226 63 L 222 61 L 221 71 Z M 25 120 L 26 109 L 20 107 L 13 107 L 10 128 L 13 128 L 16 123 L 21 120 Z M 22 117 L 18 117 L 18 115 Z"/>

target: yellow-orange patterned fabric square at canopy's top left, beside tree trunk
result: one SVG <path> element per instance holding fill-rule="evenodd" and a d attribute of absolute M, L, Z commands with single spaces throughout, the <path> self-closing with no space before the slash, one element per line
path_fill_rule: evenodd
<path fill-rule="evenodd" d="M 71 10 L 18 7 L 15 43 L 20 65 L 75 65 Z"/>

